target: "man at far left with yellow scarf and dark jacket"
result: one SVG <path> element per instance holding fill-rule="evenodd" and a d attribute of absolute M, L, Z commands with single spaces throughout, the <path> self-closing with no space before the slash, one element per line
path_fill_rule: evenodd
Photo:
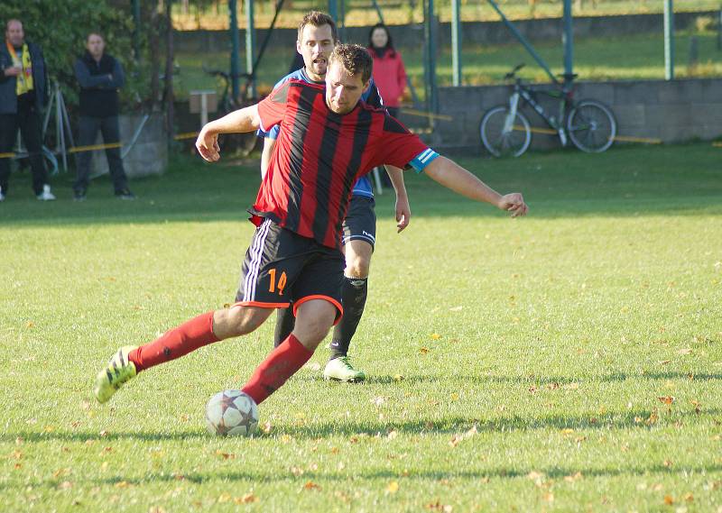
<path fill-rule="evenodd" d="M 5 199 L 10 179 L 10 159 L 17 131 L 30 154 L 32 189 L 35 196 L 55 199 L 42 160 L 41 113 L 47 100 L 47 74 L 42 50 L 25 41 L 23 23 L 5 23 L 5 44 L 0 46 L 0 201 Z"/>

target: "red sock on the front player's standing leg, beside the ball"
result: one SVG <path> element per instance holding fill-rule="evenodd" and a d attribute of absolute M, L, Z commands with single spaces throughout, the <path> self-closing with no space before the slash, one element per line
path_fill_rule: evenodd
<path fill-rule="evenodd" d="M 261 404 L 301 369 L 312 354 L 293 334 L 288 335 L 288 338 L 255 368 L 254 375 L 245 383 L 243 391 L 255 400 L 255 404 Z"/>

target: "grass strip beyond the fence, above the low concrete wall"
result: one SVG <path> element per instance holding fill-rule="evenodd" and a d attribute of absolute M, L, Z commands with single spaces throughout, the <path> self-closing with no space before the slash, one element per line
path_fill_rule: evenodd
<path fill-rule="evenodd" d="M 690 40 L 696 37 L 699 63 L 689 67 Z M 534 45 L 535 50 L 555 74 L 564 72 L 563 49 L 560 42 Z M 634 49 L 634 51 L 630 51 Z M 675 76 L 677 78 L 712 78 L 722 76 L 722 51 L 717 50 L 714 32 L 680 32 L 676 37 Z M 406 71 L 412 78 L 417 93 L 423 93 L 423 56 L 421 48 L 401 49 Z M 258 84 L 267 92 L 291 64 L 292 48 L 268 50 L 258 69 Z M 184 97 L 192 89 L 220 87 L 214 78 L 203 72 L 202 65 L 210 69 L 227 69 L 227 53 L 207 52 L 177 55 L 180 74 L 175 85 L 178 95 Z M 465 44 L 462 52 L 463 83 L 465 85 L 500 84 L 504 74 L 520 62 L 526 62 L 523 78 L 549 82 L 521 44 L 479 46 Z M 281 67 L 279 68 L 279 62 Z M 280 70 L 279 70 L 280 69 Z M 664 78 L 664 41 L 660 34 L 640 34 L 616 38 L 579 39 L 574 45 L 574 70 L 580 80 L 631 80 Z M 440 86 L 451 85 L 451 52 L 442 48 L 437 60 L 437 80 Z M 218 89 L 220 91 L 220 89 Z"/>

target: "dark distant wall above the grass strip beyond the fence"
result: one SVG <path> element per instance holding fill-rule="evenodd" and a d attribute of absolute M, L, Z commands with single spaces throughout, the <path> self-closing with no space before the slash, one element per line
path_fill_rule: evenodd
<path fill-rule="evenodd" d="M 719 13 L 677 13 L 674 23 L 677 30 L 693 26 L 700 16 L 718 19 Z M 542 18 L 523 20 L 514 25 L 530 41 L 560 41 L 562 25 L 560 18 Z M 499 44 L 516 40 L 501 22 L 465 22 L 462 23 L 462 39 L 467 43 Z M 574 35 L 579 38 L 618 36 L 637 33 L 662 33 L 662 14 L 630 14 L 625 16 L 586 16 L 574 18 Z M 267 30 L 256 31 L 258 44 L 264 40 Z M 346 41 L 366 44 L 369 27 L 348 27 Z M 241 45 L 245 44 L 245 31 L 241 30 Z M 423 27 L 419 24 L 392 27 L 393 41 L 400 48 L 417 47 L 423 41 Z M 441 45 L 451 44 L 449 23 L 440 23 L 439 39 Z M 226 51 L 230 50 L 228 31 L 184 31 L 175 32 L 176 50 L 180 51 Z M 283 49 L 293 46 L 296 41 L 295 29 L 276 29 L 271 39 L 272 46 Z"/>

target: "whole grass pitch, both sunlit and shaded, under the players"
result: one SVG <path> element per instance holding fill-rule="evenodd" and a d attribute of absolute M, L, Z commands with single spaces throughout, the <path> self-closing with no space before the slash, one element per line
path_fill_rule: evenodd
<path fill-rule="evenodd" d="M 257 164 L 179 160 L 88 201 L 0 204 L 3 511 L 722 510 L 722 150 L 708 144 L 462 160 L 522 190 L 510 220 L 408 175 L 377 198 L 360 385 L 327 351 L 261 405 L 267 433 L 208 435 L 273 323 L 141 374 L 95 374 L 232 300 Z"/>

